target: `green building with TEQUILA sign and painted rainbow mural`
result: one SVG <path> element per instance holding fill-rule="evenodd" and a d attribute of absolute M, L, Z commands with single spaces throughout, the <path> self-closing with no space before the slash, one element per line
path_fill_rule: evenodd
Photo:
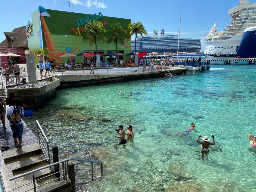
<path fill-rule="evenodd" d="M 127 29 L 128 24 L 131 22 L 130 19 L 122 19 L 116 17 L 106 17 L 101 12 L 96 14 L 81 14 L 72 13 L 66 11 L 56 11 L 45 9 L 41 6 L 38 7 L 37 11 L 32 14 L 32 23 L 30 21 L 27 24 L 27 38 L 28 47 L 31 54 L 39 48 L 45 48 L 52 50 L 48 55 L 50 61 L 55 59 L 57 63 L 64 63 L 67 60 L 74 60 L 76 63 L 82 63 L 84 57 L 64 57 L 61 58 L 56 56 L 61 53 L 86 53 L 91 52 L 95 54 L 95 44 L 92 47 L 89 45 L 89 37 L 83 39 L 85 34 L 85 24 L 92 20 L 98 20 L 103 23 L 103 27 L 108 31 L 111 24 L 120 23 L 123 29 Z M 106 40 L 111 36 L 110 32 L 104 34 Z M 128 60 L 129 56 L 126 54 L 130 53 L 131 50 L 131 38 L 126 38 L 124 45 L 118 43 L 118 52 L 124 54 L 121 56 L 124 60 Z M 102 39 L 97 38 L 97 51 L 101 54 L 108 52 L 115 52 L 116 45 L 114 43 L 104 43 Z M 39 55 L 35 56 L 35 63 L 39 62 Z M 45 57 L 46 59 L 46 57 Z M 45 60 L 44 59 L 44 60 Z M 104 61 L 106 57 L 104 58 Z"/>

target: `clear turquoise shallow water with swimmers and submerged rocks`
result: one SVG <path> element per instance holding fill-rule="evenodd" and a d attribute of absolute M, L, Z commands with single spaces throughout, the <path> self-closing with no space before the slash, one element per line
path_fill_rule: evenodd
<path fill-rule="evenodd" d="M 194 75 L 58 90 L 25 122 L 35 127 L 39 120 L 60 159 L 104 162 L 104 177 L 78 191 L 256 191 L 248 150 L 248 133 L 256 135 L 255 84 L 254 65 L 214 64 Z M 176 135 L 192 122 L 198 132 Z M 131 124 L 135 137 L 116 149 L 119 124 Z M 208 158 L 201 158 L 198 135 L 215 136 Z"/>

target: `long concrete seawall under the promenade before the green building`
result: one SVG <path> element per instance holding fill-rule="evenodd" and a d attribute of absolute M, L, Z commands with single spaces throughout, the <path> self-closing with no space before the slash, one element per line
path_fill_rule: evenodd
<path fill-rule="evenodd" d="M 176 75 L 186 73 L 186 68 L 174 69 Z M 172 70 L 170 73 L 174 75 Z M 163 71 L 154 71 L 154 72 L 145 72 L 145 73 L 129 73 L 129 74 L 64 74 L 61 76 L 56 76 L 60 80 L 60 88 L 67 87 L 80 87 L 80 86 L 89 86 L 89 85 L 99 85 L 99 84 L 108 84 L 113 82 L 125 82 L 137 79 L 145 79 L 152 77 L 162 77 L 165 76 Z"/>

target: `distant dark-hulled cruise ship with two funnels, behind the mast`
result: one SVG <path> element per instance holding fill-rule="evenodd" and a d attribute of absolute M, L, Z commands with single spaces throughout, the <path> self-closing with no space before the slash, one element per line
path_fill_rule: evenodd
<path fill-rule="evenodd" d="M 146 53 L 170 53 L 177 52 L 178 36 L 166 35 L 164 36 L 164 29 L 160 30 L 160 37 L 158 37 L 158 30 L 154 30 L 154 36 L 138 36 L 136 39 L 136 52 L 146 51 Z M 135 40 L 132 40 L 132 52 L 134 52 Z M 179 52 L 193 52 L 198 53 L 201 49 L 200 39 L 180 39 Z"/>

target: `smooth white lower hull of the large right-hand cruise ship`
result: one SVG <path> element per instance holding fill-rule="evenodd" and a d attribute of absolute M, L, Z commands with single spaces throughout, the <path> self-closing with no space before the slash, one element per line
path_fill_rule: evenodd
<path fill-rule="evenodd" d="M 242 35 L 236 35 L 226 40 L 206 42 L 204 54 L 236 53 L 241 39 Z"/>

